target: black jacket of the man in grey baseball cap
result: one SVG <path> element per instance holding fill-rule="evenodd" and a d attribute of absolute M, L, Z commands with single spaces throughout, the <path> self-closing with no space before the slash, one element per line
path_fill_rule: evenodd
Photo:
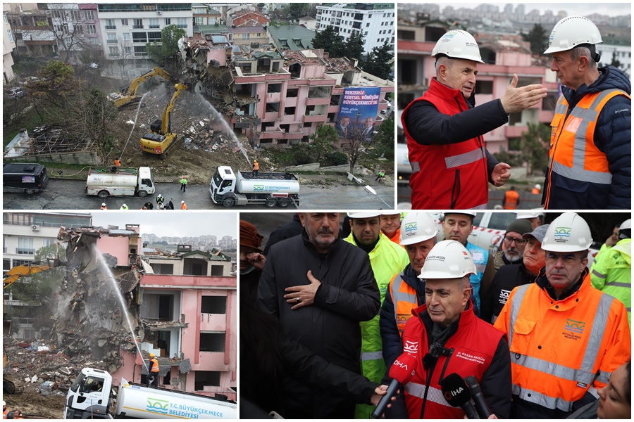
<path fill-rule="evenodd" d="M 482 308 L 480 318 L 493 324 L 495 322 L 493 317 L 497 319 L 499 313 L 502 312 L 511 290 L 533 281 L 535 276 L 528 274 L 524 264 L 506 264 L 499 267 L 490 288 L 480 302 Z"/>

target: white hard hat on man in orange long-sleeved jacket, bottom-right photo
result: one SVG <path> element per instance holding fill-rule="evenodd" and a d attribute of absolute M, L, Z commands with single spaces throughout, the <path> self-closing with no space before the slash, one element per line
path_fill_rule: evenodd
<path fill-rule="evenodd" d="M 547 252 L 578 252 L 592 245 L 592 234 L 585 219 L 575 212 L 564 212 L 548 227 L 542 242 Z"/>

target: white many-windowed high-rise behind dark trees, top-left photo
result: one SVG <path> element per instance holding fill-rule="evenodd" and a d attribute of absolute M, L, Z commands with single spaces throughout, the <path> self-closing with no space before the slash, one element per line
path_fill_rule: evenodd
<path fill-rule="evenodd" d="M 328 25 L 347 40 L 350 34 L 361 32 L 363 50 L 370 53 L 374 47 L 387 41 L 394 50 L 394 3 L 339 3 L 317 6 L 317 31 Z"/>

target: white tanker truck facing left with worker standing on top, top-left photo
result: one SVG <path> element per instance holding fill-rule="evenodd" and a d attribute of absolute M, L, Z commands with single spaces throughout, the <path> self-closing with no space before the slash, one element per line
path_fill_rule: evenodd
<path fill-rule="evenodd" d="M 209 195 L 213 203 L 225 207 L 263 204 L 268 208 L 299 207 L 299 181 L 292 173 L 251 172 L 234 174 L 229 166 L 219 166 L 211 177 Z"/>

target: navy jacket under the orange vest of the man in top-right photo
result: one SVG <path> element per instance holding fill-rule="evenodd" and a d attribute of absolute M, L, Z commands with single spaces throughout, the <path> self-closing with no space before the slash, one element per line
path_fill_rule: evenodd
<path fill-rule="evenodd" d="M 607 89 L 618 88 L 631 93 L 630 79 L 614 66 L 599 68 L 599 79 L 588 85 L 583 84 L 573 91 L 561 87 L 568 113 L 585 96 Z M 595 146 L 605 153 L 612 182 L 606 188 L 604 184 L 590 181 L 573 180 L 552 174 L 549 209 L 551 210 L 596 210 L 631 208 L 632 198 L 632 101 L 626 96 L 616 96 L 606 103 L 597 118 L 595 127 Z M 549 191 L 548 174 L 542 193 L 542 204 Z"/>

